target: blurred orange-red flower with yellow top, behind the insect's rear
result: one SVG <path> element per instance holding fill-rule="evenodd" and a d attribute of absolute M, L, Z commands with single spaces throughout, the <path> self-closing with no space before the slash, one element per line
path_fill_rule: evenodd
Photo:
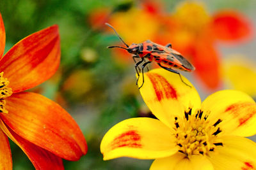
<path fill-rule="evenodd" d="M 220 85 L 220 54 L 216 41 L 237 42 L 252 36 L 251 25 L 241 13 L 223 10 L 210 15 L 204 4 L 186 1 L 163 22 L 156 41 L 168 43 L 188 57 L 196 74 L 209 89 Z"/>

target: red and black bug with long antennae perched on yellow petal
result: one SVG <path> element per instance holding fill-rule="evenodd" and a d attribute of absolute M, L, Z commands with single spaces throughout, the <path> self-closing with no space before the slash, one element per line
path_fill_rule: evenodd
<path fill-rule="evenodd" d="M 108 48 L 122 48 L 124 50 L 127 50 L 127 52 L 133 54 L 132 59 L 134 60 L 134 62 L 136 62 L 135 58 L 141 59 L 140 61 L 136 62 L 136 64 L 134 65 L 136 69 L 136 73 L 138 74 L 136 85 L 138 85 L 138 80 L 140 78 L 138 66 L 140 66 L 140 64 L 144 62 L 141 66 L 142 84 L 139 87 L 139 89 L 143 86 L 143 83 L 144 83 L 144 74 L 143 74 L 144 68 L 145 66 L 147 66 L 147 64 L 149 64 L 152 61 L 157 62 L 157 64 L 163 69 L 171 71 L 172 73 L 179 74 L 179 76 L 180 76 L 180 73 L 174 69 L 179 69 L 182 71 L 189 71 L 189 72 L 195 70 L 195 67 L 188 60 L 186 60 L 182 55 L 180 55 L 179 52 L 172 49 L 172 45 L 170 43 L 166 46 L 163 46 L 157 43 L 153 43 L 150 40 L 147 40 L 139 44 L 132 43 L 129 46 L 118 35 L 118 33 L 115 31 L 115 29 L 111 25 L 109 25 L 108 23 L 106 23 L 106 25 L 108 25 L 111 29 L 113 29 L 116 36 L 118 36 L 118 38 L 122 41 L 122 43 L 124 43 L 124 45 L 127 47 L 127 48 L 124 48 L 122 46 L 108 46 Z M 185 85 L 188 85 L 182 80 L 181 76 L 180 76 L 180 80 Z M 190 85 L 188 86 L 191 87 Z"/>

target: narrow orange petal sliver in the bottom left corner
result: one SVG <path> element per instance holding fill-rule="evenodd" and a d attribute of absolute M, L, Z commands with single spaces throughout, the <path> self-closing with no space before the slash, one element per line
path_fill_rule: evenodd
<path fill-rule="evenodd" d="M 0 169 L 12 169 L 12 153 L 7 136 L 0 129 Z"/>

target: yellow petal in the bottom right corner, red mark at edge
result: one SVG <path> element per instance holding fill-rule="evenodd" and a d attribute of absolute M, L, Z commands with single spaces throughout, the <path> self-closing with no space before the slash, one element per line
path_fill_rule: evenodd
<path fill-rule="evenodd" d="M 256 169 L 256 144 L 240 136 L 223 136 L 223 147 L 209 153 L 214 169 Z"/>

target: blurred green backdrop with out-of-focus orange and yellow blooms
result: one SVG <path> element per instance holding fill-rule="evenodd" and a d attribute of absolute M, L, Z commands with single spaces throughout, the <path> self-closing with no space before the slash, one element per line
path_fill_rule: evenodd
<path fill-rule="evenodd" d="M 88 153 L 65 169 L 148 169 L 152 160 L 102 160 L 100 141 L 118 122 L 154 117 L 143 103 L 129 53 L 106 46 L 124 46 L 147 39 L 172 43 L 196 67 L 182 73 L 202 100 L 221 89 L 256 96 L 256 1 L 132 0 L 0 0 L 7 52 L 20 39 L 58 24 L 61 66 L 34 92 L 61 104 L 81 127 Z M 157 67 L 152 64 L 149 69 Z M 251 139 L 256 139 L 252 137 Z M 13 169 L 33 169 L 11 142 Z"/>

